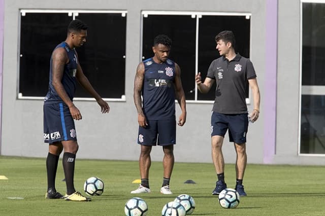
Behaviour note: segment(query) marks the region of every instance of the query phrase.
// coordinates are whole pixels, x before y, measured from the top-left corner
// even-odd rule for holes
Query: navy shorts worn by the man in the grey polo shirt
[[[248,117],[246,114],[220,114],[212,112],[211,136],[223,136],[229,129],[229,141],[238,144],[246,142]]]

